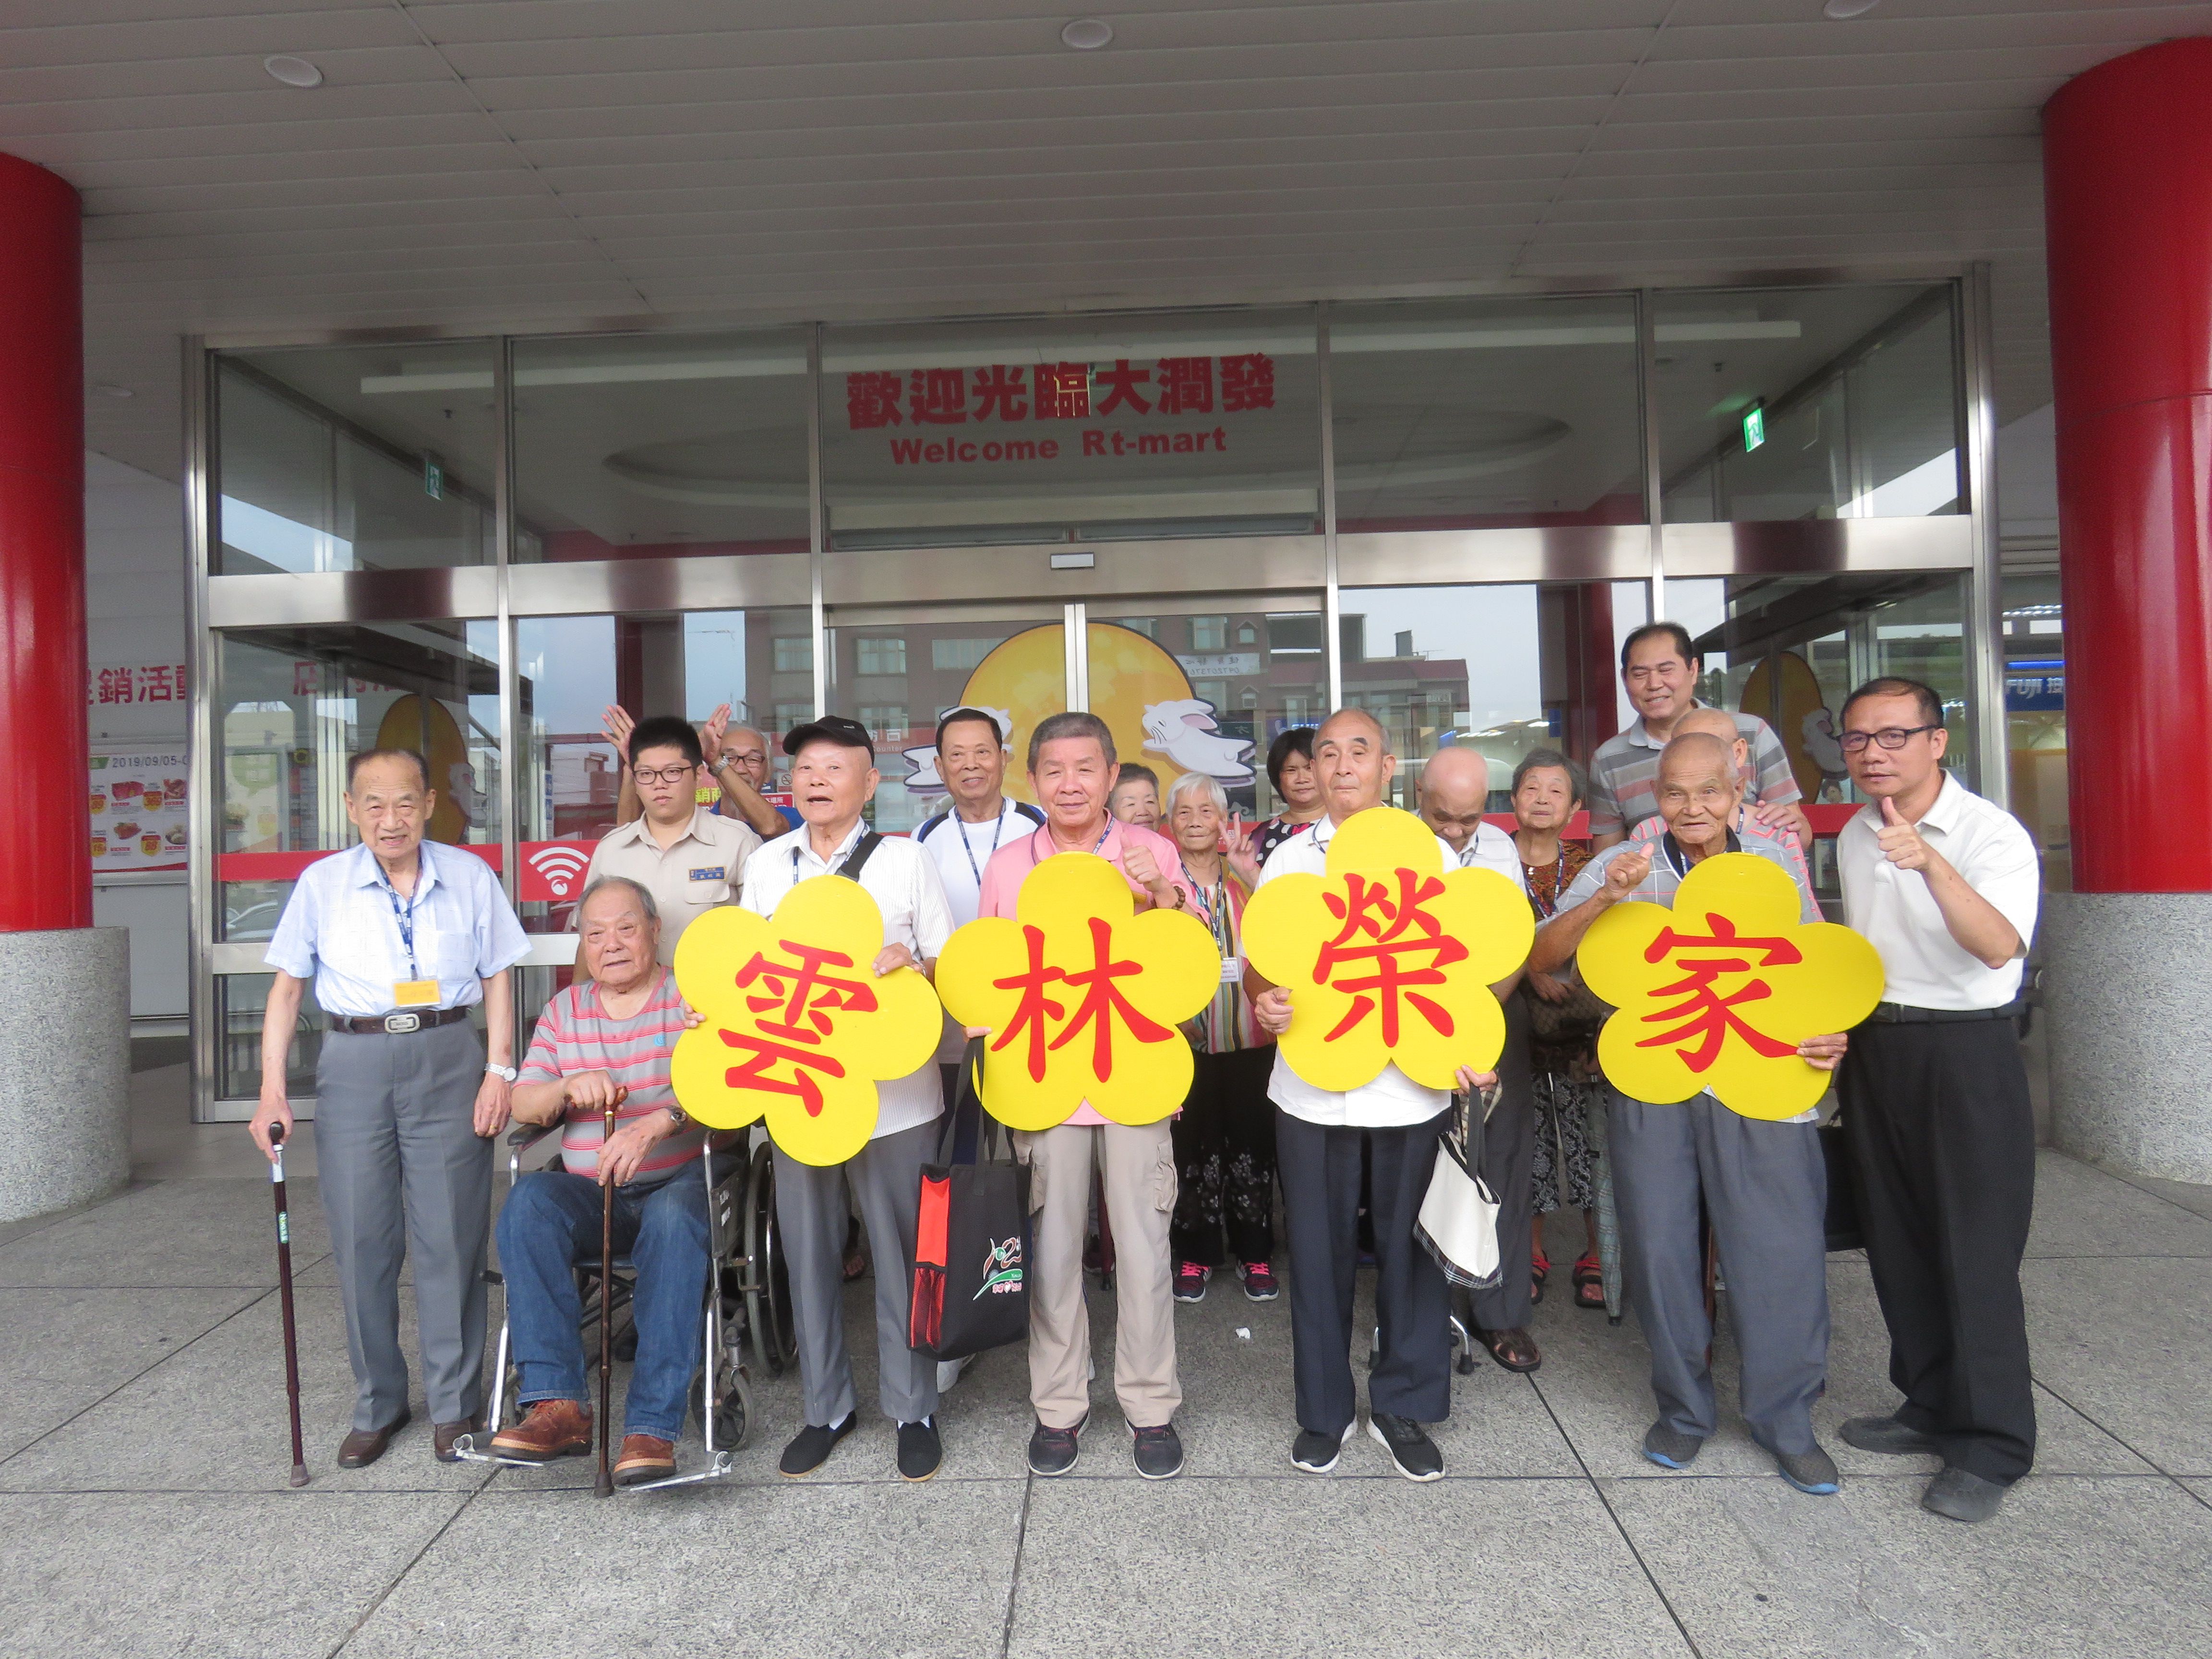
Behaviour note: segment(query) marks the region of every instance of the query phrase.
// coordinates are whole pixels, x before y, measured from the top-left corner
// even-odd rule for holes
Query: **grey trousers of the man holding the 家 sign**
[[[1697,1199],[1705,1194],[1743,1356],[1743,1420],[1767,1451],[1809,1451],[1827,1378],[1827,1166],[1812,1124],[1739,1117],[1712,1095],[1650,1106],[1606,1091],[1606,1157],[1628,1301],[1652,1352],[1659,1422],[1719,1427]]]

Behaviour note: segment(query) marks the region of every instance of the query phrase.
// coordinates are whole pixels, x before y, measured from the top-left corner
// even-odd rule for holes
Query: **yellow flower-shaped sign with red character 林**
[[[1197,916],[1135,911],[1119,869],[1062,852],[1022,878],[1013,920],[951,936],[938,993],[953,1020],[991,1029],[991,1117],[1042,1130],[1088,1099],[1117,1124],[1157,1124],[1183,1104],[1192,1066],[1177,1024],[1221,987],[1221,951]]]

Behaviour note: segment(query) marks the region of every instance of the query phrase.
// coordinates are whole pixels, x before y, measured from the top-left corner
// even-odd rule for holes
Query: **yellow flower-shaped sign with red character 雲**
[[[914,969],[872,971],[883,911],[845,876],[814,876],[772,920],[726,905],[684,929],[677,989],[706,1024],[677,1040],[670,1082],[708,1128],[768,1115],[801,1164],[843,1164],[876,1133],[876,1084],[936,1053],[938,998]]]

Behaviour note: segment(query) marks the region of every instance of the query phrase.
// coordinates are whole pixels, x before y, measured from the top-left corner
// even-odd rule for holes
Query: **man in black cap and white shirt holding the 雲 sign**
[[[936,860],[902,836],[878,836],[860,818],[876,796],[876,745],[867,728],[843,714],[794,726],[783,739],[792,757],[792,801],[801,825],[776,836],[745,865],[745,909],[772,916],[792,887],[814,876],[852,876],[883,911],[876,973],[911,967],[933,973],[953,918]],[[936,1148],[945,1110],[936,1060],[876,1086],[876,1135],[845,1164],[827,1168],[776,1157],[776,1223],[783,1228],[799,1332],[799,1383],[807,1420],[783,1449],[785,1475],[807,1475],[858,1422],[852,1356],[845,1349],[845,1190],[860,1210],[876,1259],[878,1400],[898,1425],[898,1473],[929,1480],[938,1471],[938,1367],[907,1345],[907,1298],[914,1283],[914,1232],[920,1214],[922,1164]]]

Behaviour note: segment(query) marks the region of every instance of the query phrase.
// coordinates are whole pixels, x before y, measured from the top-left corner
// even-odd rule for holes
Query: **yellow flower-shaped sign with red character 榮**
[[[1290,991],[1290,1068],[1345,1093],[1387,1064],[1429,1088],[1495,1066],[1506,1020],[1491,987],[1535,936],[1522,891],[1495,869],[1444,869],[1436,832],[1396,807],[1347,818],[1327,869],[1276,876],[1245,905],[1245,956]]]

